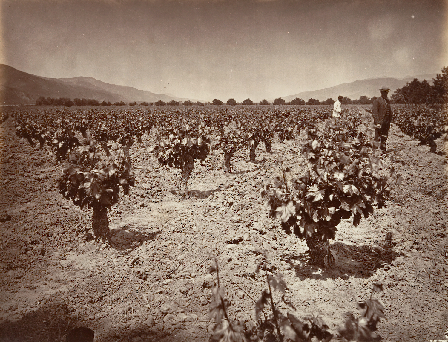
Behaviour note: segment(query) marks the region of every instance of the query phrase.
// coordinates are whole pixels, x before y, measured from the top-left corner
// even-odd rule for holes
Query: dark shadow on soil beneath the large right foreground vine
[[[345,243],[334,242],[330,244],[335,262],[332,268],[319,268],[312,265],[308,254],[289,256],[287,262],[300,280],[307,278],[325,280],[328,278],[349,279],[370,278],[377,270],[390,264],[400,255],[392,251],[392,245],[383,244],[386,248],[381,253],[372,252],[368,246],[349,246]]]

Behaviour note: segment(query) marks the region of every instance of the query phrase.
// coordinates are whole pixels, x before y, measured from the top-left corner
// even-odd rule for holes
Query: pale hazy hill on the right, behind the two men
[[[328,98],[336,100],[338,95],[347,96],[352,100],[359,99],[360,96],[366,95],[368,97],[379,96],[379,88],[382,86],[388,86],[393,91],[400,89],[406,85],[406,82],[411,82],[414,78],[418,78],[419,81],[426,81],[432,84],[432,79],[436,74],[426,74],[417,76],[407,76],[406,78],[369,78],[365,80],[358,80],[350,83],[342,83],[335,87],[314,90],[314,91],[302,91],[295,95],[282,96],[281,98],[286,102],[294,100],[296,97],[308,101],[309,99],[317,99],[319,101],[325,101]]]

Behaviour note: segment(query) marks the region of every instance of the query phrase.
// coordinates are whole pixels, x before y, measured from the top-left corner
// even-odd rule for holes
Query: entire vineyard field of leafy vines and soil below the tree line
[[[2,341],[444,337],[446,108],[127,107],[1,109]]]

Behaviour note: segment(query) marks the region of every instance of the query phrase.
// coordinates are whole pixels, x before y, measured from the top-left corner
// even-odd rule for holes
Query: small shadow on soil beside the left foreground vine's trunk
[[[111,229],[111,242],[116,249],[128,254],[135,248],[142,246],[143,242],[152,240],[161,232],[160,229],[156,228],[125,225]]]

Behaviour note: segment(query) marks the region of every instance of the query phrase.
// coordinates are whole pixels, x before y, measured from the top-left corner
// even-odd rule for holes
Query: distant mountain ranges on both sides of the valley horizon
[[[338,95],[342,95],[354,100],[359,99],[362,95],[368,97],[379,96],[379,88],[384,85],[390,87],[393,92],[405,86],[406,82],[411,82],[414,78],[420,81],[426,79],[432,83],[432,78],[435,77],[436,74],[406,76],[405,78],[369,78],[342,83],[335,87],[282,96],[282,99],[286,102],[296,97],[305,101],[311,98],[324,101],[328,98],[336,100]],[[204,100],[179,98],[170,93],[155,94],[151,91],[138,90],[133,87],[109,84],[92,77],[47,78],[36,76],[14,69],[9,65],[0,64],[0,104],[35,104],[40,96],[68,97],[72,100],[86,98],[99,100],[100,102],[106,100],[112,103],[121,101],[126,103],[134,101],[155,102],[157,100],[164,102],[170,100],[206,102]],[[273,102],[273,99],[270,102]]]

